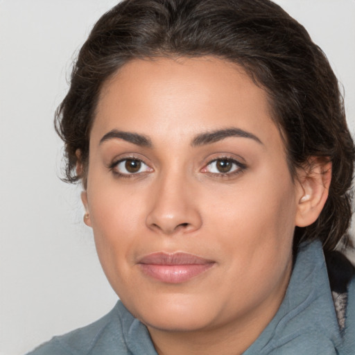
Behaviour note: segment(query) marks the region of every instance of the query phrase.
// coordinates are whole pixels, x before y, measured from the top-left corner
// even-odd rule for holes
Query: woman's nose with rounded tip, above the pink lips
[[[191,183],[178,176],[159,179],[152,189],[152,204],[146,218],[150,230],[166,235],[191,233],[202,225],[198,199]]]

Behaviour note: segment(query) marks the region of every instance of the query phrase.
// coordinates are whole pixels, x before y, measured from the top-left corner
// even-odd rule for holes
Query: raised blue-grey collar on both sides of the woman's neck
[[[117,307],[130,352],[157,355],[144,324],[134,318],[121,302]],[[270,354],[276,349],[288,354],[282,350],[284,346],[291,344],[298,351],[292,344],[304,345],[304,342],[311,341],[309,339],[329,340],[334,348],[340,347],[342,341],[320,241],[300,245],[284,301],[266,329],[243,355]]]

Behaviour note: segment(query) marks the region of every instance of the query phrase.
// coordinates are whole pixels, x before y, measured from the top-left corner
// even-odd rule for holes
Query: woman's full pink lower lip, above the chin
[[[184,264],[184,265],[157,265],[140,263],[139,266],[144,274],[168,284],[180,284],[189,279],[201,275],[209,270],[214,263]]]

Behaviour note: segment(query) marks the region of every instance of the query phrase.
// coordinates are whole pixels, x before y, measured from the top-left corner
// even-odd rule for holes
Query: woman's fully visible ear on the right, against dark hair
[[[295,225],[311,225],[320,215],[328,198],[331,182],[331,162],[322,157],[310,157],[297,169],[297,213]]]

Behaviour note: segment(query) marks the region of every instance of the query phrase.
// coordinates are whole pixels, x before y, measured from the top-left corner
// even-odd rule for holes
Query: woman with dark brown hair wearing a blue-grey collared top
[[[279,6],[119,3],[56,124],[121,301],[31,354],[354,353],[334,252],[354,144],[324,53]]]

